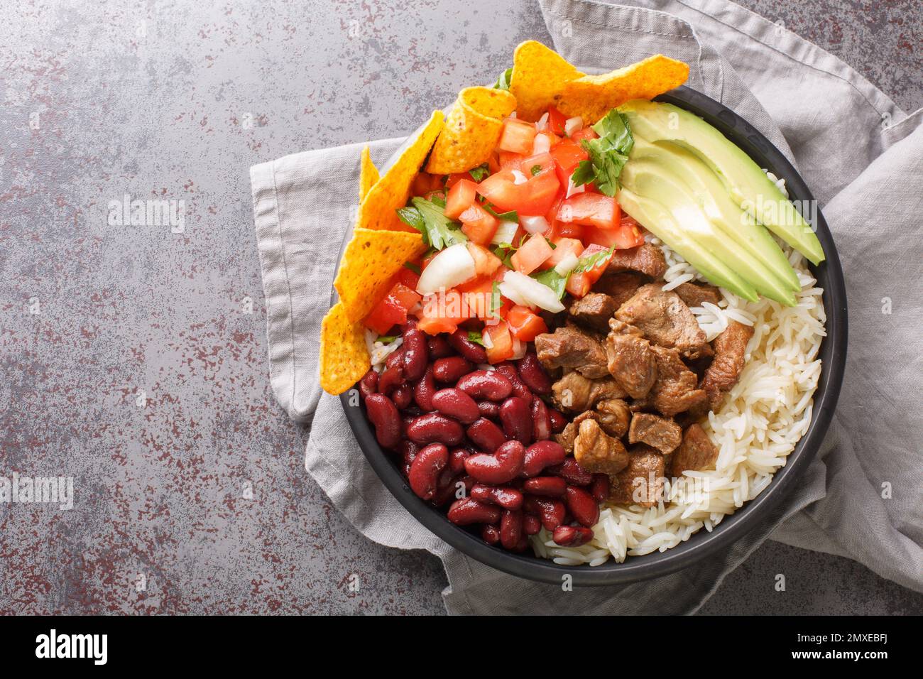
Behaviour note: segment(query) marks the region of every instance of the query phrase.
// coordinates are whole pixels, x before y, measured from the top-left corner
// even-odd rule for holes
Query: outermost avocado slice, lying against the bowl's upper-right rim
[[[732,200],[815,264],[824,260],[821,241],[795,206],[759,165],[699,116],[670,103],[634,100],[618,107],[635,137],[672,141],[713,169]]]

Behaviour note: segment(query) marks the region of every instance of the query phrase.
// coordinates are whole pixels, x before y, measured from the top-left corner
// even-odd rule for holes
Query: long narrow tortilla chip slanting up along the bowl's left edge
[[[356,226],[364,229],[418,233],[413,227],[398,219],[397,212],[394,211],[407,204],[414,176],[442,131],[444,118],[441,111],[433,111],[426,126],[419,130],[413,139],[405,142],[408,145],[403,149],[401,157],[368,190],[366,198],[359,204]]]

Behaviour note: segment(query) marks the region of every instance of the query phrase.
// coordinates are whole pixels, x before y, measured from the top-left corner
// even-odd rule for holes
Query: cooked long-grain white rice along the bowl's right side
[[[775,180],[774,177],[773,181]],[[784,180],[778,180],[785,192]],[[650,234],[666,258],[665,289],[702,276],[677,252]],[[718,412],[702,423],[719,449],[715,469],[683,472],[667,479],[665,501],[644,508],[604,505],[593,527],[593,540],[577,548],[557,546],[545,528],[531,538],[533,551],[565,565],[599,565],[610,558],[665,552],[704,528],[712,531],[726,515],[757,497],[808,430],[812,396],[821,375],[817,358],[825,336],[822,290],[816,287],[804,258],[780,242],[801,283],[797,306],[783,307],[770,299],[748,302],[724,288],[717,305],[705,302],[690,309],[709,341],[729,321],[753,327],[744,370]],[[677,482],[678,481],[678,482]],[[698,494],[683,485],[704,484]]]

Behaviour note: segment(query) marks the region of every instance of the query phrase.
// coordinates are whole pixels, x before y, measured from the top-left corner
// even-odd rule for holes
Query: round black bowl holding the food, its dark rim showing
[[[756,164],[768,168],[775,176],[784,178],[792,200],[813,200],[804,180],[798,176],[795,168],[785,159],[782,152],[746,120],[721,103],[697,91],[689,90],[687,87],[680,87],[659,96],[657,101],[673,103],[695,115],[700,115],[711,125],[717,127],[727,139],[747,152]],[[411,138],[413,137],[414,135]],[[396,158],[397,155],[398,153],[394,157]],[[727,516],[712,532],[700,530],[689,540],[679,543],[666,552],[629,556],[622,564],[609,561],[603,565],[591,567],[558,565],[550,560],[535,557],[531,553],[515,554],[490,546],[481,540],[479,531],[475,533],[451,524],[443,511],[434,509],[414,495],[403,479],[401,470],[395,464],[395,458],[386,454],[378,446],[375,431],[366,419],[365,409],[362,406],[350,404],[350,392],[341,396],[346,419],[369,464],[394,497],[439,538],[483,564],[514,576],[556,585],[560,584],[561,576],[569,574],[573,577],[575,585],[582,586],[616,585],[664,576],[677,571],[709,554],[726,549],[735,540],[758,526],[773,510],[773,507],[781,503],[795,486],[798,476],[808,467],[809,462],[817,453],[827,427],[830,425],[836,399],[840,394],[840,385],[843,382],[846,358],[846,293],[843,271],[840,268],[836,247],[833,245],[833,237],[820,211],[817,212],[817,224],[814,226],[827,256],[826,261],[823,261],[820,266],[811,267],[811,271],[818,280],[818,285],[824,291],[823,306],[827,313],[827,336],[821,345],[821,379],[817,392],[814,394],[814,411],[810,427],[797,443],[795,450],[788,455],[785,467],[775,472],[770,485],[756,499],[744,504],[733,515]],[[350,237],[351,233],[347,233],[344,244]]]

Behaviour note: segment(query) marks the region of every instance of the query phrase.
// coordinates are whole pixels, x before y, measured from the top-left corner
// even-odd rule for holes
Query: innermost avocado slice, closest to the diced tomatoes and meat
[[[713,222],[701,205],[701,197],[683,180],[688,173],[679,170],[677,164],[651,158],[638,159],[632,155],[629,163],[625,164],[619,181],[635,196],[647,201],[641,203],[646,212],[651,212],[650,203],[656,203],[663,211],[668,212],[672,216],[671,224],[677,224],[677,227],[685,232],[685,242],[675,243],[675,234],[665,231],[661,235],[658,229],[663,229],[663,226],[654,224],[653,227],[649,227],[632,214],[628,206],[622,207],[645,228],[677,250],[709,280],[712,278],[695,260],[701,260],[707,254],[720,261],[725,266],[726,271],[722,272],[725,281],[717,285],[724,285],[728,290],[748,299],[757,299],[755,295],[749,297],[755,290],[763,297],[775,299],[789,306],[794,305],[795,297],[792,291],[786,288],[772,270],[750,254],[749,249],[741,248]],[[705,172],[710,174],[711,170],[705,168]],[[715,268],[714,264],[710,266],[712,269]],[[726,285],[727,279],[731,285]],[[716,283],[714,280],[712,282]]]

